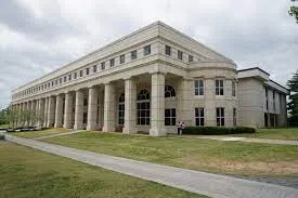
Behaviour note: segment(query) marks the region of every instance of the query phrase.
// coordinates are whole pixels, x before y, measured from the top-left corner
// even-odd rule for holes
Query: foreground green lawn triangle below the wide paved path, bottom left
[[[0,142],[0,197],[205,197]]]

